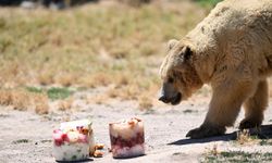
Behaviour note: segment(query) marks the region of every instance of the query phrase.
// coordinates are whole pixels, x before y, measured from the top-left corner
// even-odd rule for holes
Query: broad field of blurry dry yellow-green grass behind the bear
[[[208,11],[187,1],[139,8],[101,2],[65,11],[1,9],[0,103],[17,110],[36,103],[41,114],[48,112],[48,93],[29,93],[25,87],[107,87],[97,95],[98,103],[118,98],[151,108],[165,42],[184,36]]]

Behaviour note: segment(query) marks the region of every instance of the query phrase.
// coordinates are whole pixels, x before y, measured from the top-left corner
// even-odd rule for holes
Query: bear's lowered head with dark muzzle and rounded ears
[[[178,104],[203,85],[195,68],[195,55],[196,51],[189,41],[169,41],[168,55],[160,67],[163,80],[160,101]]]

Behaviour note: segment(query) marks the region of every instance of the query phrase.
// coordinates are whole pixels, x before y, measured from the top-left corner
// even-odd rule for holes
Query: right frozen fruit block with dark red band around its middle
[[[144,124],[139,118],[110,123],[113,158],[132,158],[145,154]]]

